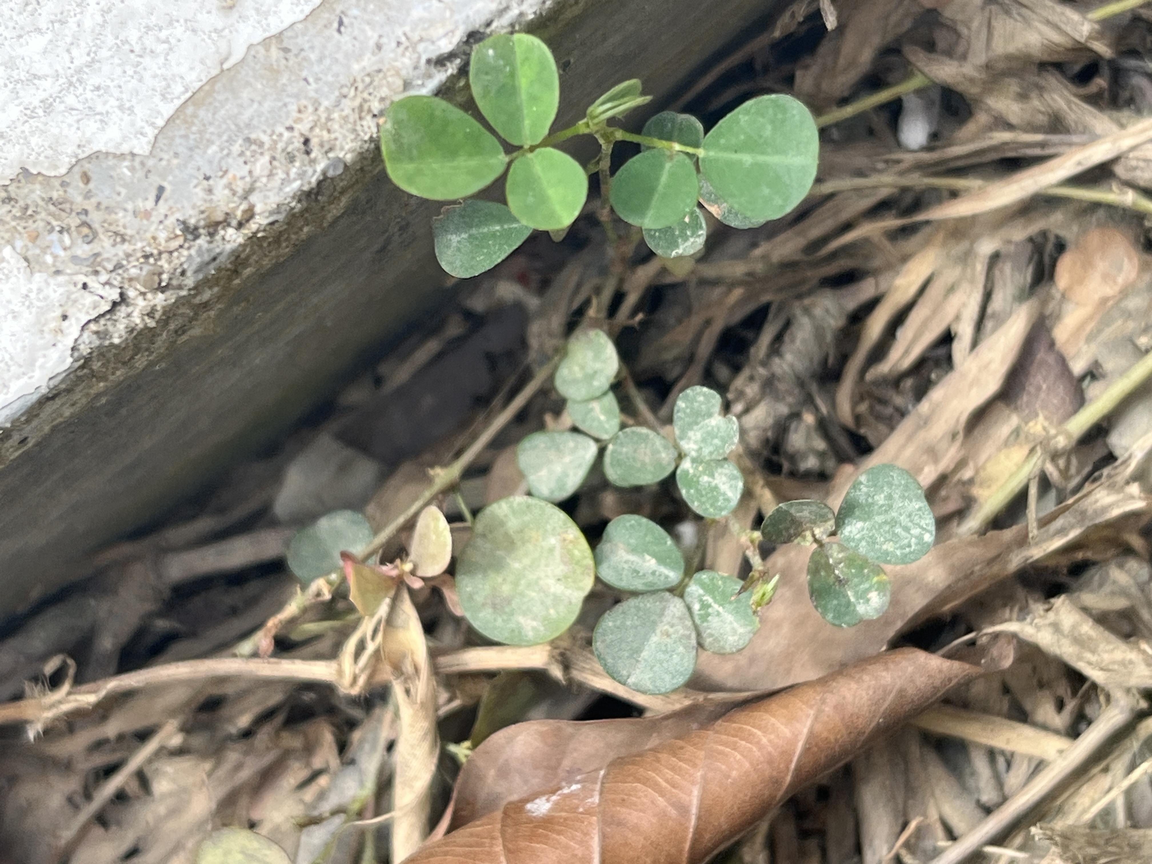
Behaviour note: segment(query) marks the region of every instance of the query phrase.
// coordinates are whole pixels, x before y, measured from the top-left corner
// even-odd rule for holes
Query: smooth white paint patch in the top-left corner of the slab
[[[146,154],[200,85],[320,0],[2,0],[0,183]],[[7,7],[7,8],[5,8]]]

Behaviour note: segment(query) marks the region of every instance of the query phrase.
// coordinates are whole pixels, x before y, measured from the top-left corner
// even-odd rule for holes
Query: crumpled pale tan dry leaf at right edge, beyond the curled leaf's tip
[[[1152,654],[1113,636],[1067,597],[1028,621],[1009,621],[986,632],[1010,632],[1109,690],[1152,687]]]

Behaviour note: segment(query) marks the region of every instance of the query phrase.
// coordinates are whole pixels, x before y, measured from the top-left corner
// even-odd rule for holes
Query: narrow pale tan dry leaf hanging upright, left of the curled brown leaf
[[[400,719],[393,750],[392,861],[404,861],[429,835],[432,780],[440,756],[435,679],[420,617],[404,586],[388,611],[380,652],[393,672],[392,692]]]

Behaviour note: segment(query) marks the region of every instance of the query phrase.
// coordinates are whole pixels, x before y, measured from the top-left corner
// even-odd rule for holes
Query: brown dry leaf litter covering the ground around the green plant
[[[271,455],[3,624],[0,862],[192,862],[219,828],[302,863],[1146,861],[1152,385],[1094,407],[1152,349],[1150,45],[1138,5],[782,9],[676,107],[707,129],[790,92],[823,115],[794,213],[705,214],[703,251],[623,276],[590,219],[529,241]],[[605,585],[550,645],[477,638],[453,561],[472,513],[526,492],[517,442],[569,432],[564,400],[529,393],[422,497],[590,309],[623,426],[726,394],[740,531],[835,508],[876,464],[924,486],[937,545],[887,568],[882,615],[831,627],[809,550],[593,469],[561,502],[593,546],[638,514],[697,569],[780,575],[750,645],[630,691],[591,653],[627,596]],[[349,597],[283,563],[334,509],[429,515],[380,567],[344,559]]]

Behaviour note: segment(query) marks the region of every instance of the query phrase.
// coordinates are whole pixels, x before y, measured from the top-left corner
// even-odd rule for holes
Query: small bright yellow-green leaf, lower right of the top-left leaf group
[[[584,207],[588,175],[568,153],[543,147],[511,164],[505,195],[524,225],[558,230],[571,225]]]

